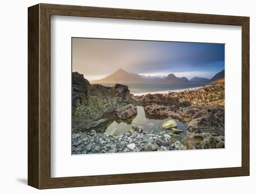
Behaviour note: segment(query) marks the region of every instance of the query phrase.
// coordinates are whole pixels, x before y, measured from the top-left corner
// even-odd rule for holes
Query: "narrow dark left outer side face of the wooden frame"
[[[39,188],[39,5],[28,9],[28,180]]]

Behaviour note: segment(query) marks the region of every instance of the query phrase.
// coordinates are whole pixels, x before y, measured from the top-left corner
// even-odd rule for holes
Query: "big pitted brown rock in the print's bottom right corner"
[[[187,127],[188,149],[224,148],[224,108],[206,106],[195,113]]]

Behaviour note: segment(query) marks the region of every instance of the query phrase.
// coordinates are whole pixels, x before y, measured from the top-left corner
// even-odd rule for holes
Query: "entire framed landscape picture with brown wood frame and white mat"
[[[249,17],[28,8],[28,185],[249,175]]]

